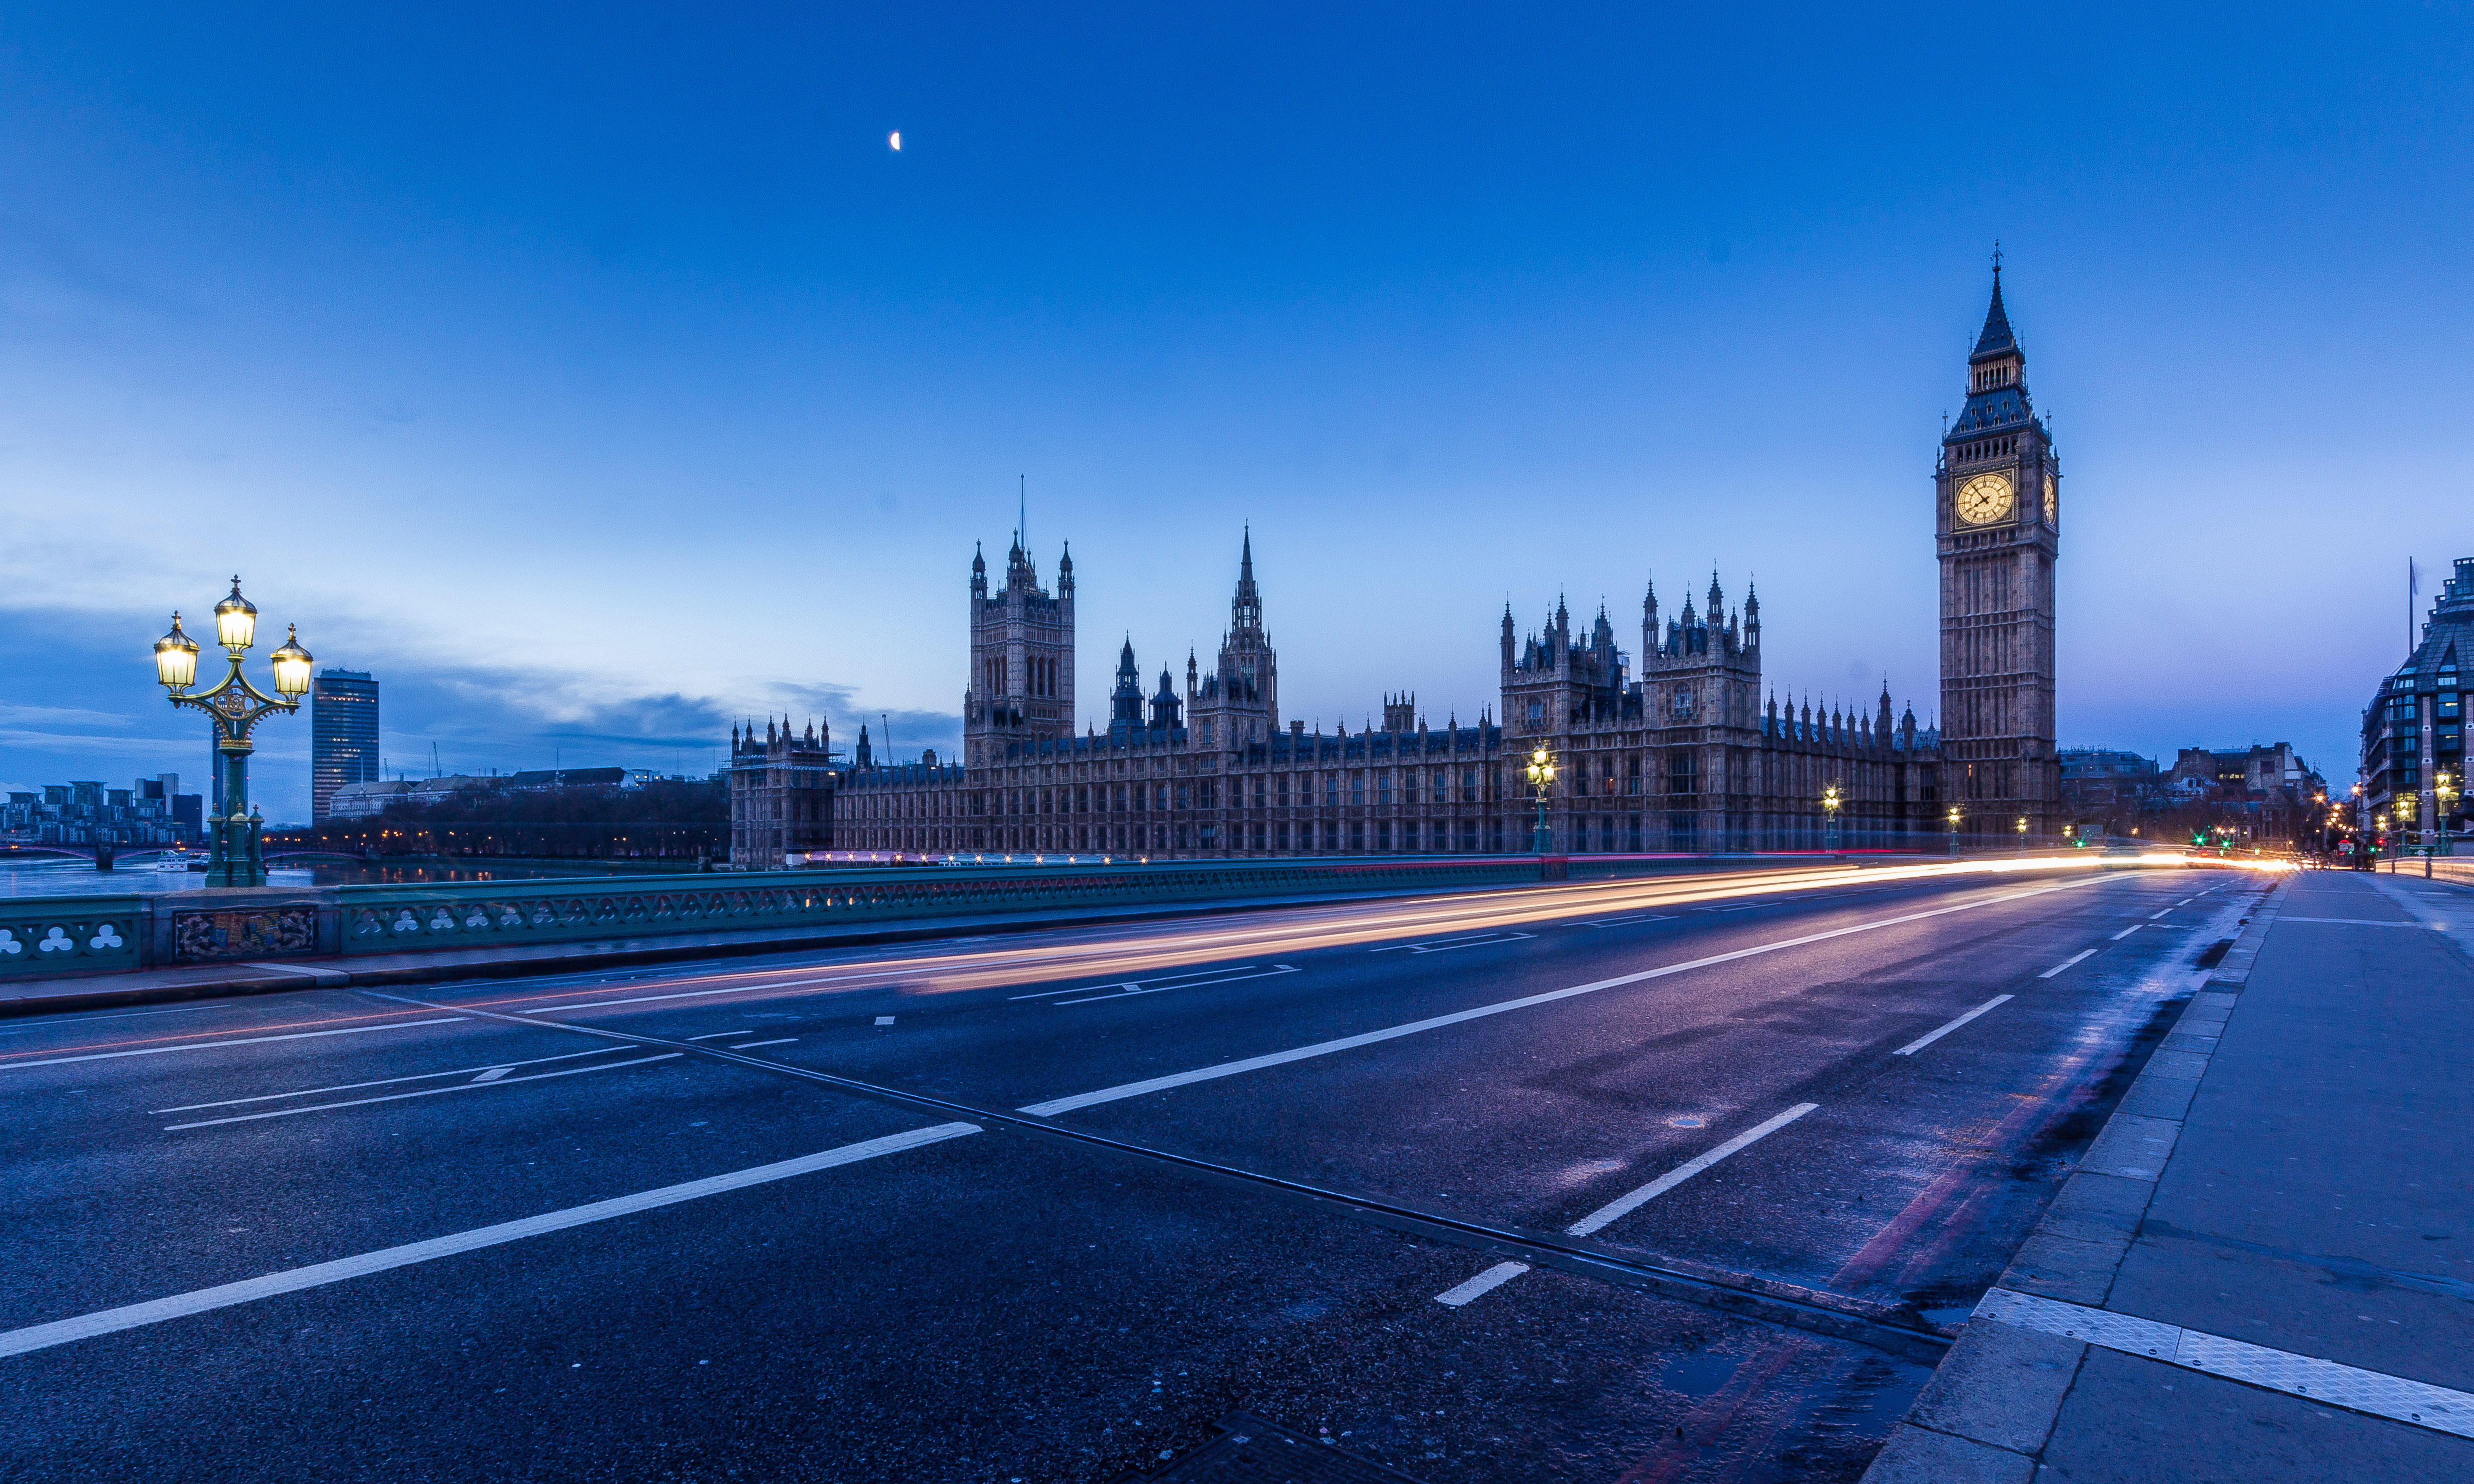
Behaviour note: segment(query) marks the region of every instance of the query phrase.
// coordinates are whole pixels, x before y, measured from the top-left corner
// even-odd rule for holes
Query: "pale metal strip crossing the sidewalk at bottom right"
[[[2293,1350],[2271,1350],[2269,1345],[2229,1341],[2224,1336],[2182,1328],[2177,1323],[2157,1323],[2152,1318],[2138,1318],[2135,1313],[2113,1313],[2110,1308],[2086,1308],[2081,1303],[2063,1303],[2061,1298],[2014,1294],[2011,1289],[1987,1291],[1972,1318],[1994,1318],[2019,1328],[2120,1350],[2123,1355],[2162,1360],[2165,1365],[2177,1365],[2182,1370],[2199,1370],[2204,1375],[2222,1375],[2244,1385],[2293,1392],[2298,1397],[2311,1397],[2313,1402],[2345,1407],[2348,1412],[2370,1412],[2373,1417],[2392,1417],[2397,1422],[2429,1427],[2432,1432],[2474,1437],[2474,1392],[2429,1385],[2427,1380],[2407,1380],[2402,1375],[2363,1370],[2360,1365],[2343,1365],[2338,1360],[2321,1360],[2318,1355],[2298,1355]]]

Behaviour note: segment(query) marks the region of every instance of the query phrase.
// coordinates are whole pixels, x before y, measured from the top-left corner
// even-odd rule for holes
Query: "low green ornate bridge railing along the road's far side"
[[[1079,915],[1249,898],[1836,866],[1836,856],[1346,856],[1150,866],[928,866],[0,898],[0,979],[520,942]]]

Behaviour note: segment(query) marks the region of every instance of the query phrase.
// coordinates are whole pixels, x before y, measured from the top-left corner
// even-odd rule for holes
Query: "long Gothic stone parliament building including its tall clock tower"
[[[1930,848],[2058,829],[2053,561],[2061,467],[2026,393],[2026,356],[1992,304],[1967,356],[1967,403],[1935,472],[1940,727],[1779,707],[1761,680],[1761,603],[1729,608],[1717,576],[1672,606],[1640,599],[1638,665],[1601,608],[1556,608],[1522,633],[1502,616],[1502,685],[1472,722],[1427,725],[1385,697],[1380,727],[1309,732],[1279,710],[1252,534],[1210,668],[1145,685],[1118,650],[1108,730],[1076,732],[1074,556],[1054,586],[1022,537],[1002,584],[970,564],[962,754],[878,762],[866,727],[844,759],[821,730],[732,730],[730,861],[831,856],[1108,856],[1197,861],[1301,853],[1526,851],[1526,757],[1551,749],[1554,851],[1799,851],[1823,846],[1823,791],[1843,848]]]

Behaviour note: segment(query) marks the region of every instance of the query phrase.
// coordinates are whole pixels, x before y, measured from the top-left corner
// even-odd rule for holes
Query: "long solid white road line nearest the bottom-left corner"
[[[242,1279],[238,1284],[223,1284],[218,1289],[195,1289],[190,1294],[173,1294],[171,1298],[153,1298],[148,1303],[99,1308],[94,1313],[79,1313],[77,1318],[54,1318],[52,1323],[35,1323],[27,1328],[0,1333],[0,1358],[25,1355],[27,1350],[42,1350],[47,1345],[67,1345],[72,1341],[92,1341],[94,1336],[109,1336],[114,1331],[139,1328],[146,1323],[163,1323],[166,1318],[186,1318],[190,1313],[228,1308],[233,1303],[250,1303],[255,1298],[272,1298],[275,1294],[297,1294],[302,1289],[319,1289],[324,1284],[341,1284],[346,1279],[366,1279],[369,1274],[383,1274],[388,1269],[411,1266],[416,1261],[433,1261],[440,1256],[455,1256],[460,1252],[475,1252],[480,1247],[497,1247],[502,1242],[522,1242],[527,1237],[544,1237],[549,1232],[564,1232],[569,1227],[609,1222],[614,1217],[631,1217],[636,1212],[651,1212],[666,1205],[703,1200],[708,1195],[747,1190],[750,1185],[789,1180],[792,1175],[811,1175],[816,1170],[831,1170],[836,1165],[856,1165],[858,1160],[873,1160],[878,1155],[915,1150],[920,1145],[960,1138],[965,1133],[980,1133],[980,1125],[938,1123],[933,1128],[913,1128],[910,1133],[871,1138],[866,1143],[841,1145],[839,1150],[824,1150],[821,1155],[802,1155],[797,1160],[782,1160],[777,1165],[755,1165],[750,1170],[732,1170],[730,1175],[708,1175],[705,1180],[688,1180],[685,1185],[663,1185],[661,1190],[643,1190],[638,1195],[596,1200],[591,1205],[569,1207],[564,1212],[547,1212],[539,1217],[524,1217],[520,1222],[500,1222],[495,1227],[475,1227],[473,1232],[455,1232],[453,1237],[430,1237],[428,1242],[411,1242],[406,1247],[383,1247],[379,1252],[364,1252],[359,1256],[339,1256],[334,1261],[287,1269],[280,1274],[267,1274],[262,1279]]]

